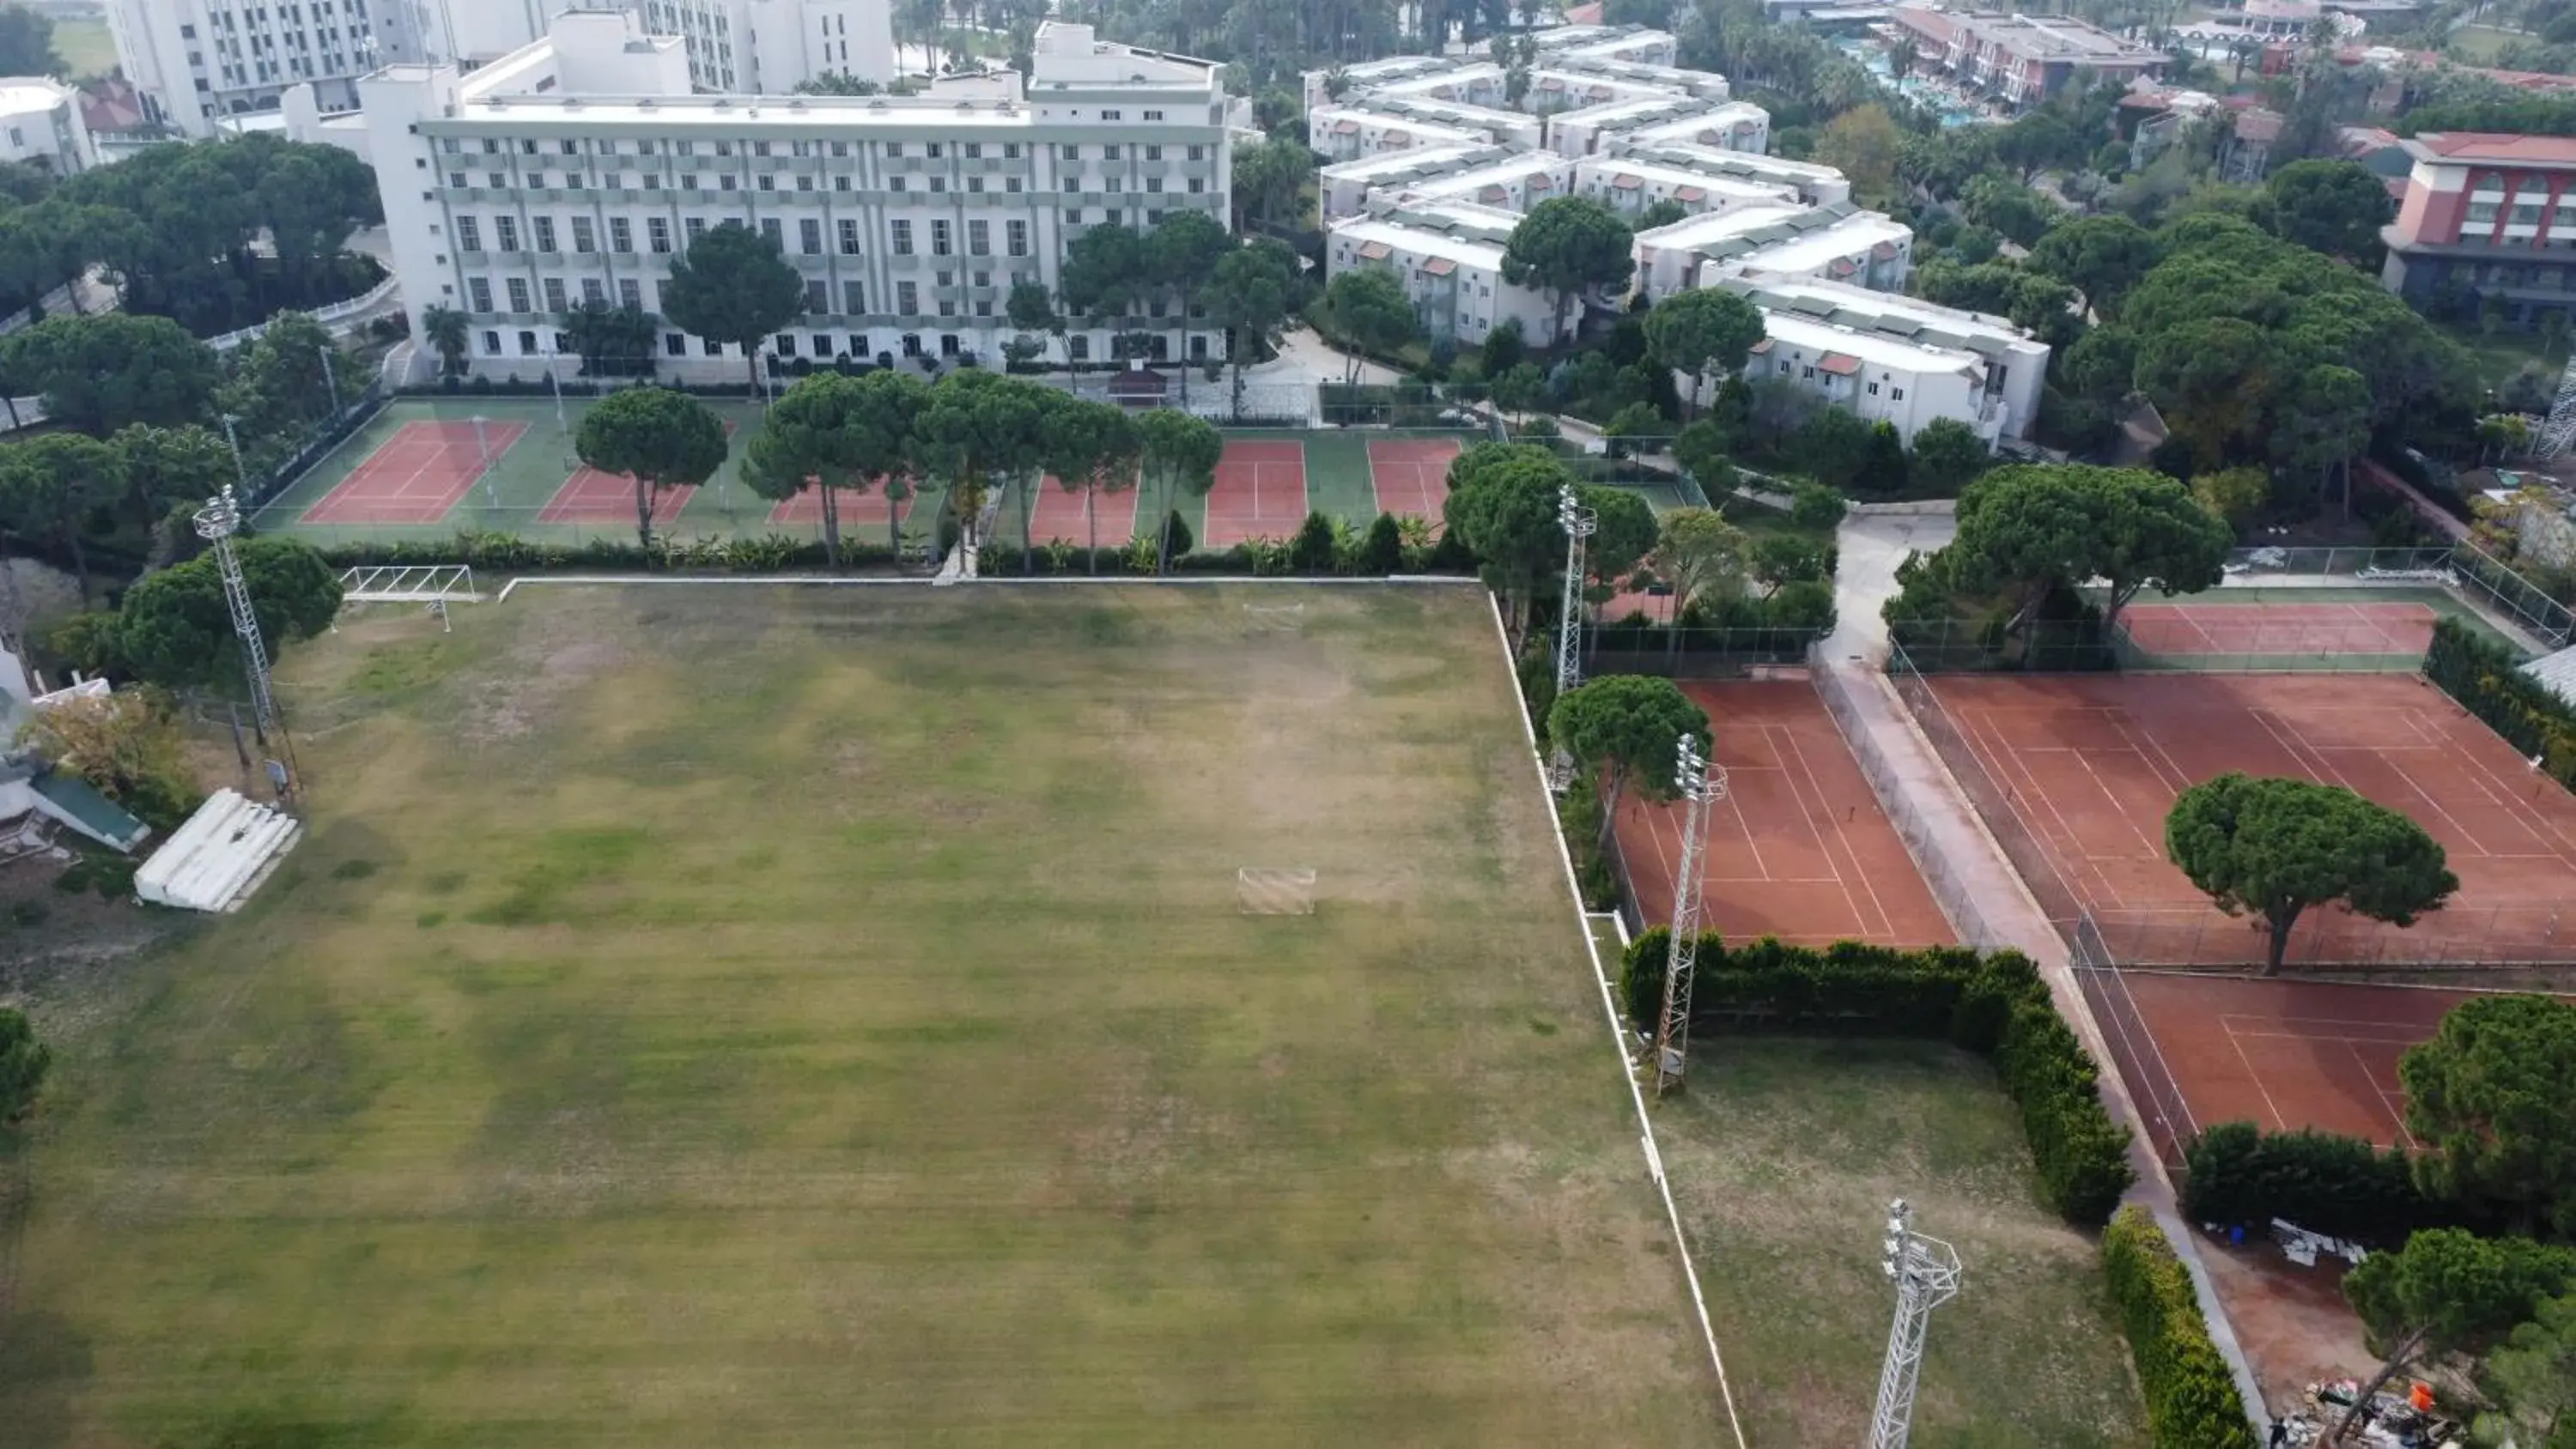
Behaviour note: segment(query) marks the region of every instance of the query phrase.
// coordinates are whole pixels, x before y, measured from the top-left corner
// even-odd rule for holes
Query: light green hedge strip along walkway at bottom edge
[[[2254,1449],[2254,1423],[2210,1343],[2192,1274],[2146,1207],[2120,1210],[2102,1230],[2102,1277],[2138,1364],[2156,1449]]]

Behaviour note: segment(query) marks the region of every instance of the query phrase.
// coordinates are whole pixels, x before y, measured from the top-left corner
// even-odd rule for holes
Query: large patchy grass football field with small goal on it
[[[312,839],[36,1001],[0,1441],[1713,1444],[1492,628],[634,587],[291,649]]]

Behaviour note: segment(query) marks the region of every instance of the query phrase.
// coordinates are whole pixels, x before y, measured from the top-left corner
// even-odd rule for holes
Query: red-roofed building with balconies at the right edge
[[[2576,309],[2576,139],[2427,131],[2398,219],[2380,229],[2380,283],[2414,306],[2488,301],[2506,324]]]

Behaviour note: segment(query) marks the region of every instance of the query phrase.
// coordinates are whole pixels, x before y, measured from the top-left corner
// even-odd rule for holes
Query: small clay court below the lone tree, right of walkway
[[[2079,970],[2076,981],[2166,1161],[2218,1122],[2414,1145],[2398,1058],[2468,1001],[2465,991],[2159,970]]]

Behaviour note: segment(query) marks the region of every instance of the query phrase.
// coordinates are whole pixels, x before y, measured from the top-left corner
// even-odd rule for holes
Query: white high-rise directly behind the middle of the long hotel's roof
[[[819,75],[894,80],[889,0],[623,0],[654,36],[680,36],[711,95],[786,95]]]

